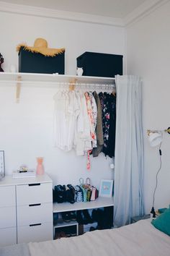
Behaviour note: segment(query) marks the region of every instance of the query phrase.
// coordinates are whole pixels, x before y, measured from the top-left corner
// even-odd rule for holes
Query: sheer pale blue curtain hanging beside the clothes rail
[[[144,214],[142,81],[117,75],[116,90],[114,222],[123,226]]]

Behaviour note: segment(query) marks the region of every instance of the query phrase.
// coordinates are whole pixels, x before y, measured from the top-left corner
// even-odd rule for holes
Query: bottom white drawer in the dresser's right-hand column
[[[41,242],[53,239],[53,223],[37,223],[37,226],[19,226],[18,243]]]

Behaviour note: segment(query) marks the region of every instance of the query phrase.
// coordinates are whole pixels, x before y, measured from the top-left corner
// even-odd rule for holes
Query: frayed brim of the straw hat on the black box
[[[17,46],[17,51],[20,51],[21,48],[24,48],[24,51],[31,51],[32,53],[42,54],[44,56],[55,56],[58,54],[63,54],[65,48],[45,48],[45,47],[31,47],[25,44],[19,44]]]

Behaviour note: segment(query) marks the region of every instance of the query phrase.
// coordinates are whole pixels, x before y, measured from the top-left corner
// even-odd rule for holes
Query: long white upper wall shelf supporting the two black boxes
[[[32,84],[32,86],[46,86],[57,85],[58,83],[77,82],[78,84],[87,85],[114,85],[114,77],[85,77],[76,75],[66,74],[36,74],[36,73],[12,73],[12,72],[1,72],[0,73],[0,84],[4,83],[22,83]]]

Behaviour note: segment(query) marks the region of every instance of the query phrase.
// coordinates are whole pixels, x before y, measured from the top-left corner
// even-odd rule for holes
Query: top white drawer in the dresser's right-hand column
[[[17,185],[17,205],[53,202],[52,183]]]

